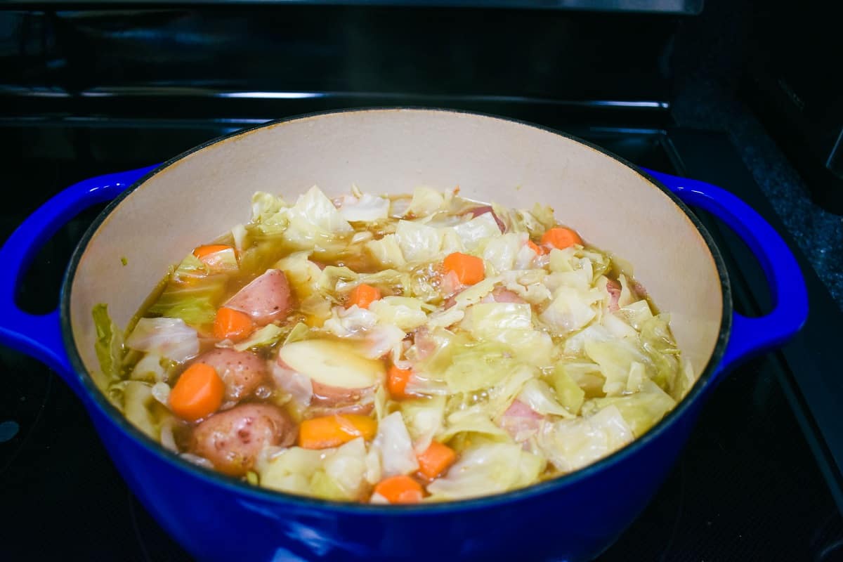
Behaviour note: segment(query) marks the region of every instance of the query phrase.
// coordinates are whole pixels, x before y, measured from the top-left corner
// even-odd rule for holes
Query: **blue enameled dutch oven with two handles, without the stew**
[[[197,467],[131,426],[89,373],[91,309],[126,325],[186,249],[248,220],[255,190],[287,200],[317,184],[372,192],[459,185],[507,206],[542,201],[556,217],[636,268],[698,380],[657,426],[572,474],[502,495],[417,506],[368,506],[262,490]],[[114,200],[73,254],[58,310],[24,313],[15,286],[40,245],[78,211]],[[771,313],[733,313],[726,269],[685,206],[732,227],[764,266]],[[126,261],[126,265],[123,261]],[[29,217],[3,245],[0,340],[46,362],[78,393],[142,504],[206,560],[591,559],[657,490],[717,381],[781,345],[807,315],[787,245],[728,191],[638,169],[598,147],[526,123],[447,110],[353,110],[282,120],[226,136],[160,166],[88,179]]]

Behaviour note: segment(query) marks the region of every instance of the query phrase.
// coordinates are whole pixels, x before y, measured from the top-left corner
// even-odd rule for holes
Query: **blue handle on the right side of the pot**
[[[774,302],[770,313],[757,318],[733,313],[732,334],[717,372],[781,345],[796,334],[808,318],[808,291],[796,258],[752,207],[715,185],[696,179],[644,170],[690,206],[711,212],[743,238],[764,269]]]

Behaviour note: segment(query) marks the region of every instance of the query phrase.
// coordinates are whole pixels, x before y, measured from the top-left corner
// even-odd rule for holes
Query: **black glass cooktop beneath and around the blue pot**
[[[524,108],[505,104],[492,109],[525,115]],[[286,113],[300,110],[307,108]],[[612,126],[601,118],[594,126],[552,107],[526,113],[633,163],[718,183],[773,218],[724,135],[646,128],[640,120]],[[8,146],[20,148],[0,154],[6,200],[0,238],[78,179],[156,163],[250,123],[0,120]],[[46,312],[56,305],[68,256],[97,211],[72,221],[35,260],[20,294],[26,308]],[[743,244],[710,217],[701,218],[727,258],[738,310],[763,310],[769,296]],[[823,411],[816,378],[840,374],[824,346],[829,342],[833,349],[830,338],[840,334],[843,318],[804,261],[803,267],[812,307],[806,330],[784,351],[749,362],[717,388],[652,503],[599,560],[843,559],[840,450],[829,431],[838,422]],[[0,349],[0,377],[0,559],[189,559],[132,497],[82,405],[59,378],[7,349]],[[840,388],[824,394],[835,392]]]

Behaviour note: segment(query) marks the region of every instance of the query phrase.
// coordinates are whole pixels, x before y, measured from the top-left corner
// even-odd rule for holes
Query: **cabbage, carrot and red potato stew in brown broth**
[[[94,308],[97,380],[162,446],[274,490],[517,489],[642,436],[695,378],[629,265],[540,204],[257,193],[185,254],[126,335]]]

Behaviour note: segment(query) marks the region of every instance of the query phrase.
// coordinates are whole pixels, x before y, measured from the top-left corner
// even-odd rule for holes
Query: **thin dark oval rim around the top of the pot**
[[[169,449],[164,448],[164,446],[162,446],[160,443],[154,441],[152,437],[146,435],[145,433],[137,429],[137,427],[133,426],[132,423],[126,418],[126,416],[123,415],[123,413],[119,409],[117,409],[114,404],[111,404],[110,401],[106,399],[105,393],[100,390],[94,383],[93,377],[90,376],[88,369],[83,364],[82,357],[79,355],[76,342],[73,339],[72,327],[70,322],[72,280],[76,274],[79,260],[81,260],[89,241],[91,240],[91,238],[94,237],[94,234],[98,230],[99,226],[105,221],[106,217],[110,215],[110,212],[113,211],[116,206],[119,206],[121,204],[121,201],[123,201],[128,195],[132,194],[132,192],[137,190],[138,187],[143,185],[148,179],[152,178],[155,174],[158,174],[158,172],[169,168],[170,165],[177,163],[181,159],[186,158],[191,154],[196,153],[206,147],[210,147],[220,142],[227,142],[237,136],[247,135],[251,132],[260,129],[278,126],[296,120],[315,119],[345,113],[366,113],[371,111],[399,112],[405,110],[429,111],[432,113],[452,113],[481,117],[485,119],[503,120],[516,123],[521,126],[529,126],[534,129],[539,129],[540,131],[550,132],[555,135],[564,136],[574,142],[578,142],[586,147],[596,150],[599,153],[603,153],[609,158],[615,160],[615,162],[632,169],[634,172],[636,172],[636,174],[641,175],[642,178],[646,179],[648,183],[654,185],[656,188],[658,188],[658,190],[661,190],[665,195],[670,198],[671,201],[674,202],[674,205],[676,205],[679,208],[679,211],[682,211],[685,214],[685,217],[687,217],[690,222],[694,224],[697,231],[705,240],[706,246],[708,247],[709,252],[711,253],[711,258],[714,260],[714,263],[717,267],[717,275],[720,278],[722,287],[722,318],[719,333],[717,335],[717,342],[714,346],[714,350],[711,352],[711,356],[709,357],[708,362],[706,363],[706,367],[702,370],[700,376],[697,377],[694,385],[690,388],[688,393],[685,394],[685,397],[674,406],[674,409],[671,409],[668,414],[662,418],[662,420],[659,420],[658,423],[655,426],[652,426],[650,430],[647,431],[643,436],[636,438],[631,443],[627,444],[625,447],[621,447],[620,449],[610,453],[606,457],[601,458],[598,461],[589,464],[588,466],[579,468],[573,471],[572,473],[563,474],[553,479],[548,479],[537,484],[531,484],[518,490],[511,490],[499,494],[484,495],[481,497],[470,498],[465,500],[448,500],[436,503],[421,503],[404,506],[383,506],[373,504],[359,504],[350,501],[322,500],[319,498],[313,498],[303,495],[294,495],[289,494],[287,492],[282,492],[280,490],[271,490],[268,488],[255,486],[243,480],[236,479],[231,476],[226,476],[211,468],[204,468],[195,463],[191,463],[190,461],[181,458],[178,453],[169,451]],[[157,456],[160,460],[164,461],[164,463],[168,463],[173,468],[178,468],[182,472],[203,479],[206,481],[207,484],[217,485],[232,492],[250,496],[255,500],[276,503],[278,505],[282,505],[284,503],[294,504],[303,508],[348,512],[358,515],[389,515],[392,517],[396,517],[401,515],[437,514],[454,511],[475,511],[479,509],[502,506],[517,501],[529,500],[534,496],[549,494],[552,492],[563,490],[570,486],[577,485],[577,483],[579,483],[580,481],[588,479],[590,476],[599,473],[604,468],[609,468],[621,463],[624,459],[631,457],[643,447],[647,447],[647,445],[649,445],[651,442],[656,441],[672,426],[674,426],[676,423],[679,423],[679,419],[682,418],[686,413],[690,412],[691,407],[693,404],[695,404],[695,402],[698,402],[699,400],[704,398],[704,394],[706,393],[706,390],[711,386],[714,374],[715,372],[717,372],[717,367],[719,366],[723,353],[726,350],[726,345],[728,343],[729,335],[732,328],[733,303],[732,290],[729,282],[728,272],[726,270],[726,265],[722,259],[722,255],[720,254],[719,249],[717,249],[717,245],[711,238],[711,234],[708,233],[708,231],[706,230],[706,227],[704,227],[700,220],[695,217],[693,212],[690,211],[690,208],[686,206],[685,203],[683,203],[681,200],[679,200],[679,197],[674,195],[673,192],[668,190],[661,182],[659,182],[658,179],[654,179],[650,174],[647,174],[642,169],[638,168],[635,164],[628,162],[625,158],[620,158],[619,156],[610,153],[604,148],[594,145],[591,142],[584,141],[583,139],[580,139],[576,136],[566,134],[565,132],[556,131],[556,129],[553,129],[551,127],[530,123],[529,121],[525,120],[519,120],[510,117],[502,117],[500,115],[491,115],[476,111],[451,110],[448,108],[429,108],[417,106],[384,106],[372,108],[363,107],[348,108],[343,110],[318,111],[301,115],[293,115],[278,120],[267,121],[266,123],[262,123],[257,126],[252,126],[245,129],[241,129],[239,131],[234,131],[232,133],[229,133],[228,135],[217,136],[207,142],[203,142],[197,145],[196,147],[192,147],[191,149],[186,150],[185,152],[180,153],[174,158],[170,158],[166,162],[160,164],[157,168],[153,169],[148,174],[138,179],[134,184],[126,188],[126,190],[124,190],[120,195],[118,195],[114,201],[111,201],[110,204],[99,213],[99,216],[96,217],[94,222],[92,222],[88,229],[85,231],[76,249],[73,250],[70,263],[67,266],[67,270],[65,271],[64,279],[62,280],[62,290],[60,295],[59,308],[62,327],[62,340],[64,342],[65,351],[67,351],[67,356],[70,359],[70,363],[73,367],[74,374],[79,377],[82,388],[87,393],[87,398],[90,399],[89,404],[87,405],[94,404],[94,406],[99,409],[99,413],[101,413],[112,423],[114,423],[115,426],[117,426],[122,433],[126,434],[126,436],[128,437],[131,437],[135,442],[137,442],[139,446],[147,449],[148,452],[151,452],[153,455]]]

